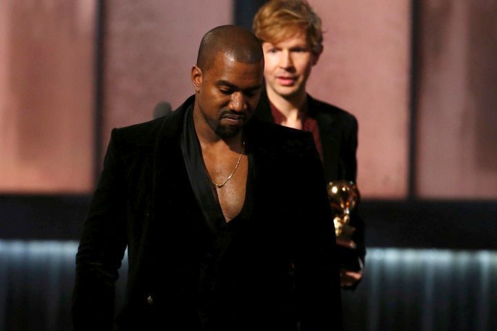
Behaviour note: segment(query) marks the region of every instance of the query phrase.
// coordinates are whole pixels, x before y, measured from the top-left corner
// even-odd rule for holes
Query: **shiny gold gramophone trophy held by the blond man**
[[[333,223],[340,267],[360,270],[356,246],[351,239],[355,228],[349,224],[351,212],[360,200],[358,187],[353,181],[340,180],[329,182],[327,188],[331,208],[335,212]]]

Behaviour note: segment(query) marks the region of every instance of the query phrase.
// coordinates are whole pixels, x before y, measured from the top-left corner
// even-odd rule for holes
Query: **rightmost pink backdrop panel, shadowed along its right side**
[[[497,6],[420,1],[418,195],[497,199]]]

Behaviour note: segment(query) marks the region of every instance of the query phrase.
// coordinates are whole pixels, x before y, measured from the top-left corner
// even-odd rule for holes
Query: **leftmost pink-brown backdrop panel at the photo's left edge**
[[[90,192],[95,3],[0,1],[0,192]]]

